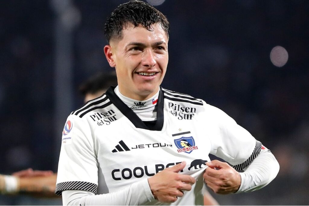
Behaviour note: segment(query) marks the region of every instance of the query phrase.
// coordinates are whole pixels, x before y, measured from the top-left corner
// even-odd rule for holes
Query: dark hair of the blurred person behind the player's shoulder
[[[79,92],[85,96],[88,93],[95,94],[99,90],[107,90],[108,87],[116,85],[117,77],[114,72],[100,72],[99,74],[95,74],[94,76],[90,77],[86,80],[86,82],[79,86]]]

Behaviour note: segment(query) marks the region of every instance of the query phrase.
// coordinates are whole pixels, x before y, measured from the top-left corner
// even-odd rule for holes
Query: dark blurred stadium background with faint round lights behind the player
[[[145,0],[146,1],[146,0]],[[221,108],[269,148],[276,179],[222,205],[309,204],[309,2],[147,0],[171,23],[162,86]],[[104,23],[125,0],[10,0],[0,6],[0,173],[57,171],[78,86],[112,71]],[[0,195],[0,205],[60,199]]]

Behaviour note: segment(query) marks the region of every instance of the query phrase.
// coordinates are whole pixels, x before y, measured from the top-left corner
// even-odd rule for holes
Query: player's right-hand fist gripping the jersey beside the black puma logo
[[[226,162],[213,160],[206,162],[208,166],[203,175],[205,183],[218,194],[230,194],[236,192],[241,183],[240,174]]]

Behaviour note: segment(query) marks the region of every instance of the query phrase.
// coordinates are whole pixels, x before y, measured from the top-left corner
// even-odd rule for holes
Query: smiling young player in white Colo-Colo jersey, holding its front
[[[104,53],[118,86],[67,119],[56,187],[63,204],[199,205],[204,183],[229,194],[277,175],[273,154],[223,111],[160,88],[168,33],[166,17],[145,2],[122,4],[108,18]],[[233,166],[210,162],[209,153]]]

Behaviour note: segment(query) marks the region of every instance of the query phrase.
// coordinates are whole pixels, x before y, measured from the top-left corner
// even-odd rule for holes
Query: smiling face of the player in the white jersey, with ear
[[[168,63],[166,32],[159,23],[151,30],[129,25],[122,30],[122,39],[104,47],[108,63],[116,69],[121,94],[139,101],[158,92]]]

